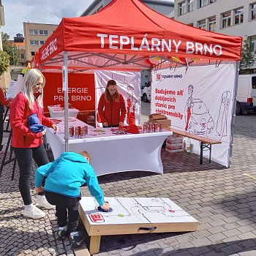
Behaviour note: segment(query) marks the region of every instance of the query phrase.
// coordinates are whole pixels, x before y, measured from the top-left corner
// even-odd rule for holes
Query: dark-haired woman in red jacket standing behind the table
[[[124,126],[127,110],[124,97],[118,93],[115,80],[108,81],[105,93],[99,99],[98,112],[103,127]]]

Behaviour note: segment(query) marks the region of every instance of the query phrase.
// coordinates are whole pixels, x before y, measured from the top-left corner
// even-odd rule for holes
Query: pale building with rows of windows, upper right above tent
[[[249,38],[252,52],[256,50],[255,0],[175,0],[174,19],[199,29]]]

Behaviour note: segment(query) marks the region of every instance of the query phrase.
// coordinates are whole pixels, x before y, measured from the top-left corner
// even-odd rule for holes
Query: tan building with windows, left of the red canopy
[[[45,43],[48,37],[53,34],[57,26],[53,24],[23,22],[27,62],[31,61],[35,53]]]

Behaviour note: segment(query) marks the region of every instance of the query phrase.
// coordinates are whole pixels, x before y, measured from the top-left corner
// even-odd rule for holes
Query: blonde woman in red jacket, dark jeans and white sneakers
[[[49,159],[42,144],[42,135],[45,135],[45,130],[37,133],[31,132],[27,119],[36,113],[40,124],[52,127],[58,132],[57,125],[42,114],[44,86],[45,77],[42,73],[37,69],[29,69],[24,76],[23,89],[10,104],[12,148],[20,168],[19,189],[24,203],[23,215],[32,219],[45,217],[45,213],[37,206],[47,209],[53,208],[42,192],[37,195],[37,206],[35,206],[32,203],[29,190],[32,159],[38,166],[48,164]]]

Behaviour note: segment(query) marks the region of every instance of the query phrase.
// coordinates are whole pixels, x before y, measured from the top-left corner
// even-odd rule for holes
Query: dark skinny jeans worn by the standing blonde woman
[[[29,189],[30,176],[32,172],[32,159],[34,159],[38,167],[48,164],[49,159],[43,145],[37,148],[13,148],[13,150],[15,152],[15,157],[20,168],[20,195],[23,199],[24,205],[29,205],[32,203]],[[42,184],[42,186],[43,185],[44,184]],[[39,195],[44,195],[44,193],[39,193]]]

